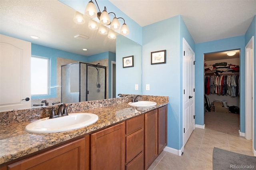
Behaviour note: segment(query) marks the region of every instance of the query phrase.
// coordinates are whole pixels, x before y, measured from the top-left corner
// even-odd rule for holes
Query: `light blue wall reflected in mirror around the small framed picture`
[[[133,55],[134,67],[123,68],[123,57]],[[116,95],[142,94],[141,45],[124,37],[116,37]],[[139,89],[135,90],[135,84]]]

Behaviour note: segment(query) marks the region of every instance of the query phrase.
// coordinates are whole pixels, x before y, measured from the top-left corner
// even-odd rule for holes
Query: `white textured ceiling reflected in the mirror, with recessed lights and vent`
[[[88,29],[88,18],[83,25],[75,24],[75,12],[58,0],[0,0],[0,33],[86,56],[105,51],[115,53],[116,40]],[[89,39],[74,38],[78,34]],[[34,40],[30,35],[40,39]]]

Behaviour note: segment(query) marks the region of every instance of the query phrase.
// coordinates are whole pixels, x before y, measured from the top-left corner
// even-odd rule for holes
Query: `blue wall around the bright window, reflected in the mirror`
[[[31,55],[38,57],[46,57],[50,59],[50,95],[39,95],[32,96],[32,99],[41,99],[41,98],[52,98],[57,96],[57,57],[73,59],[78,61],[86,62],[86,56],[79,55],[75,53],[70,53],[67,51],[62,51],[59,49],[54,49],[50,47],[45,47],[42,45],[31,44]]]

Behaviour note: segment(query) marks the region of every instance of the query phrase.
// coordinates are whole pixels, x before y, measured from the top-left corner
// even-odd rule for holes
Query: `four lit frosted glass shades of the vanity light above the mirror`
[[[99,12],[97,12],[96,6],[92,2],[92,0],[90,0],[90,2],[88,2],[87,6],[85,8],[84,15],[88,16],[91,19],[95,18],[97,16],[97,18],[100,20],[101,24],[110,25],[111,30],[114,30],[114,31],[119,30],[120,23],[119,23],[118,19],[124,20],[124,18],[116,18],[116,14],[114,12],[108,13],[107,10],[106,10],[106,6],[104,6],[104,10],[102,12],[100,12],[100,8],[98,6],[98,3],[97,3],[96,0],[95,0],[95,2],[96,2],[96,5],[98,7]],[[114,14],[114,18],[113,18],[112,22],[110,22],[109,14]],[[75,21],[75,19],[74,19],[74,21]],[[90,25],[90,23],[89,23],[88,27],[90,29],[92,29],[92,26]],[[124,20],[124,24],[121,27],[120,34],[122,34],[122,35],[128,35],[129,34],[129,29],[128,29],[128,26],[125,24],[125,20]]]

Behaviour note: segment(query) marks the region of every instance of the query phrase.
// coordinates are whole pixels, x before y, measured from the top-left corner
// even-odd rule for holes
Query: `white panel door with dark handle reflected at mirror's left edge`
[[[31,107],[30,62],[30,42],[0,35],[0,111]]]

